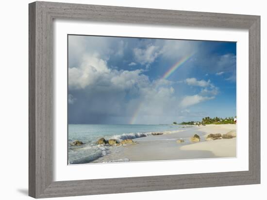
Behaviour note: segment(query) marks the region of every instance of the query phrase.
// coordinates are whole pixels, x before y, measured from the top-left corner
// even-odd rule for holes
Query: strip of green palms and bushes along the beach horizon
[[[174,122],[173,122],[174,124]],[[180,123],[182,125],[197,125],[197,124],[234,124],[234,117],[225,117],[225,118],[221,118],[221,117],[214,117],[214,118],[210,118],[210,117],[204,117],[202,118],[202,121],[183,121],[182,123]]]

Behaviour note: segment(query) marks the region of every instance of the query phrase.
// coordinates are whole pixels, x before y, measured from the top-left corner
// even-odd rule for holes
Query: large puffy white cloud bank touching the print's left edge
[[[105,86],[117,89],[131,89],[150,84],[143,70],[133,71],[110,69],[98,54],[84,56],[80,67],[68,69],[68,86],[70,89],[84,89],[86,86]]]

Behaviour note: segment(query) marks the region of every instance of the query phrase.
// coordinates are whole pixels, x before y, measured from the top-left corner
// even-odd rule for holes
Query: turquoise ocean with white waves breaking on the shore
[[[109,124],[69,124],[68,125],[68,164],[90,163],[106,156],[112,149],[108,145],[98,145],[96,142],[104,137],[108,139],[135,139],[151,135],[155,132],[174,133],[184,128],[184,125],[109,125]],[[73,147],[70,143],[80,140],[82,146]]]

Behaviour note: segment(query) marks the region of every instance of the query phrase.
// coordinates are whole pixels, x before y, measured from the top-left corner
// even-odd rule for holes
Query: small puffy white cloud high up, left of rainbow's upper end
[[[145,49],[134,48],[134,57],[142,65],[153,63],[160,54],[160,48],[152,44],[148,45]]]

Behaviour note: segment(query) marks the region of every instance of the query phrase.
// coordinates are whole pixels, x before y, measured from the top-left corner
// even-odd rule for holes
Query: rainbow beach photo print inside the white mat
[[[236,42],[67,42],[69,165],[236,157]]]

